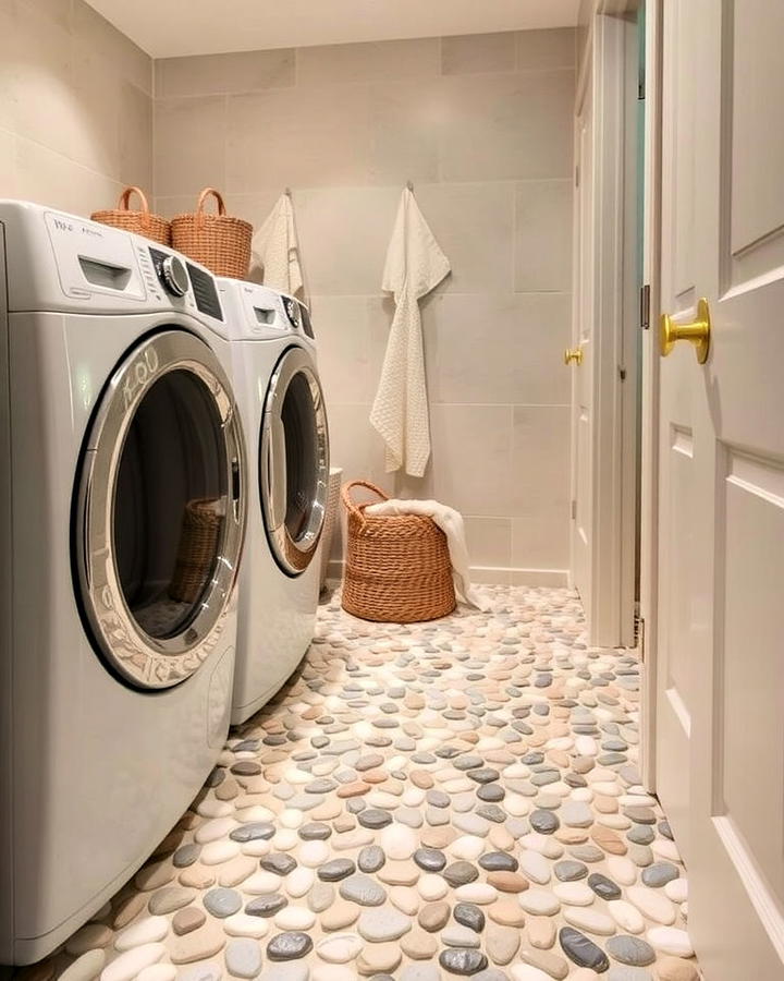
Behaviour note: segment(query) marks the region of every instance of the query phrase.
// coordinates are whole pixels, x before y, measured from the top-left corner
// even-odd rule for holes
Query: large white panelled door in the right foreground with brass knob
[[[784,978],[784,4],[663,0],[657,785],[710,981]]]

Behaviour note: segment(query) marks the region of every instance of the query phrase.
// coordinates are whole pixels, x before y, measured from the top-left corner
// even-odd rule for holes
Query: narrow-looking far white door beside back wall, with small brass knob
[[[591,609],[591,463],[593,398],[593,92],[588,77],[575,128],[575,317],[566,355],[572,382],[572,574],[586,614]]]

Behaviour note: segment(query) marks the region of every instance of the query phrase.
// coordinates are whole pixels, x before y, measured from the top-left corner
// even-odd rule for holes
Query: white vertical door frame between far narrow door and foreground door
[[[592,257],[587,257],[593,265],[592,481],[588,507],[591,595],[586,616],[589,643],[604,647],[635,645],[639,457],[634,420],[639,379],[636,359],[629,354],[638,343],[638,323],[636,316],[628,315],[629,307],[637,308],[637,296],[636,287],[634,296],[629,296],[628,264],[624,259],[630,228],[625,16],[636,7],[635,0],[597,0],[593,4],[585,48],[578,52],[576,93],[576,107],[580,107],[587,85],[592,86],[593,228],[589,235]],[[575,239],[578,243],[579,235]],[[574,316],[576,329],[576,310]],[[572,467],[574,494],[574,453]]]

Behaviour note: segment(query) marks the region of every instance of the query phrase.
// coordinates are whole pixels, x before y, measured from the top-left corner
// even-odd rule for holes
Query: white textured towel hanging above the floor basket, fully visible
[[[403,192],[387,251],[382,288],[394,293],[381,380],[370,422],[387,444],[387,472],[405,468],[422,476],[430,457],[425,352],[419,300],[450,271],[414,195]]]

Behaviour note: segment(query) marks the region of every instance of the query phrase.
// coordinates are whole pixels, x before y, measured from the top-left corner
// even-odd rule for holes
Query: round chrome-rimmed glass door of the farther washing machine
[[[313,359],[303,348],[280,358],[267,390],[259,453],[267,537],[287,576],[316,555],[329,481],[327,412]]]

